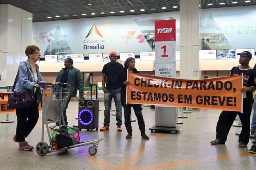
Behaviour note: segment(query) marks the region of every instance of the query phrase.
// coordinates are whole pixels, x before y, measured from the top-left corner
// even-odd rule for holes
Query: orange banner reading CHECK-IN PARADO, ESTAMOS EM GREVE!
[[[226,111],[242,109],[242,76],[184,80],[128,73],[127,103]]]

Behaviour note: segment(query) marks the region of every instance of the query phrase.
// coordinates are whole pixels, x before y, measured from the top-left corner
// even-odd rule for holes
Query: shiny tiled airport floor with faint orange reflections
[[[103,125],[104,104],[100,103],[99,128]],[[68,108],[69,125],[77,124],[77,102],[71,102]],[[220,111],[195,110],[186,114],[182,129],[178,134],[151,133],[148,128],[154,125],[154,109],[143,107],[146,134],[150,140],[142,139],[137,122],[132,122],[133,136],[126,139],[126,129],[116,131],[115,116],[111,116],[110,130],[105,132],[82,130],[81,140],[103,137],[95,156],[88,153],[89,146],[48,153],[39,156],[35,150],[19,151],[17,143],[12,141],[16,130],[16,116],[11,114],[15,123],[0,123],[0,169],[255,169],[256,155],[249,154],[248,148],[238,147],[241,128],[232,127],[225,145],[211,146],[215,139],[215,128]],[[132,118],[136,118],[134,113]],[[5,119],[5,115],[0,115]],[[124,120],[124,115],[123,115]],[[27,141],[34,146],[41,141],[41,114],[35,129]],[[48,138],[45,133],[45,141]]]

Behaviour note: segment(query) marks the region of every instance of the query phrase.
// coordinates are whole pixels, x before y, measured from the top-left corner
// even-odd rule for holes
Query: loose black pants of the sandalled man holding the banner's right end
[[[216,138],[221,140],[222,142],[226,142],[228,132],[238,114],[242,123],[242,131],[238,141],[247,144],[249,142],[250,137],[251,113],[252,108],[244,108],[243,113],[233,111],[222,111],[221,115],[219,115],[219,120],[216,127]]]

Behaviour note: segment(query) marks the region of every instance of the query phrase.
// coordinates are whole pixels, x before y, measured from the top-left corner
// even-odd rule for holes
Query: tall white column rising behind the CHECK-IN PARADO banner
[[[199,79],[200,0],[180,0],[180,77]]]

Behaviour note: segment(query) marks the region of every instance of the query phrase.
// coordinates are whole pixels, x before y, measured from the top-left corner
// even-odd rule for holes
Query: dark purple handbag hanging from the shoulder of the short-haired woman
[[[26,66],[27,66],[27,64],[26,64]],[[28,73],[28,79],[29,79],[29,77],[31,77],[31,75],[30,75],[28,68],[27,68],[27,73]],[[13,93],[10,94],[9,100],[7,103],[7,107],[9,109],[19,109],[19,108],[29,107],[32,105],[32,103],[35,100],[33,90],[26,89],[25,91],[21,91],[21,92],[14,91],[17,80],[18,80],[18,75],[19,75],[19,70],[17,72],[16,78],[15,78],[15,81],[13,84],[13,89],[12,89]]]

